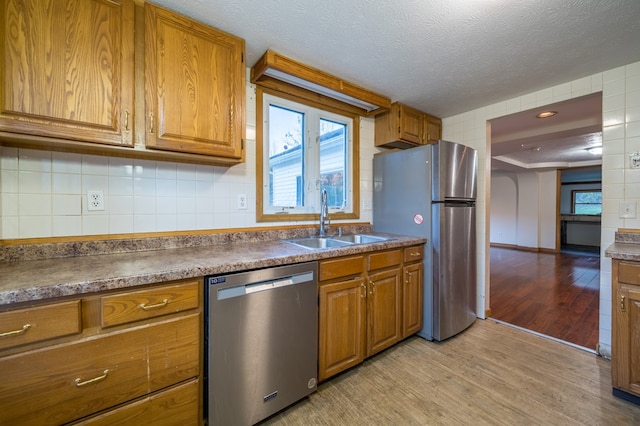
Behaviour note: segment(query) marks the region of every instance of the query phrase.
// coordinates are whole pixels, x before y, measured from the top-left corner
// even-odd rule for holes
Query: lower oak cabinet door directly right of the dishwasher
[[[363,278],[320,284],[318,379],[364,360],[366,287]]]

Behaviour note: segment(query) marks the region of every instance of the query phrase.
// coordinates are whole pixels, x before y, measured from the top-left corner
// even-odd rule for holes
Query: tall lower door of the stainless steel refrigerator
[[[469,204],[435,203],[433,338],[444,340],[476,319],[476,218]]]

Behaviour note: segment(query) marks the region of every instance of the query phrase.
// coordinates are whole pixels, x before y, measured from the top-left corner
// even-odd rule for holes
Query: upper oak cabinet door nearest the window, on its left
[[[244,40],[144,6],[146,146],[243,159]]]

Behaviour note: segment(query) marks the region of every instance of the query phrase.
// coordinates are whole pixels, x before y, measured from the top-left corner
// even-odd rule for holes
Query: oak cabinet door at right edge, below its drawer
[[[616,295],[613,385],[640,395],[640,287],[620,284]]]

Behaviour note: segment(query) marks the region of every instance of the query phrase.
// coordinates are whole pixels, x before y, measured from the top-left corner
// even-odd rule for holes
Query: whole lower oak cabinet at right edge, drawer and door
[[[611,382],[640,397],[640,262],[612,263]]]

